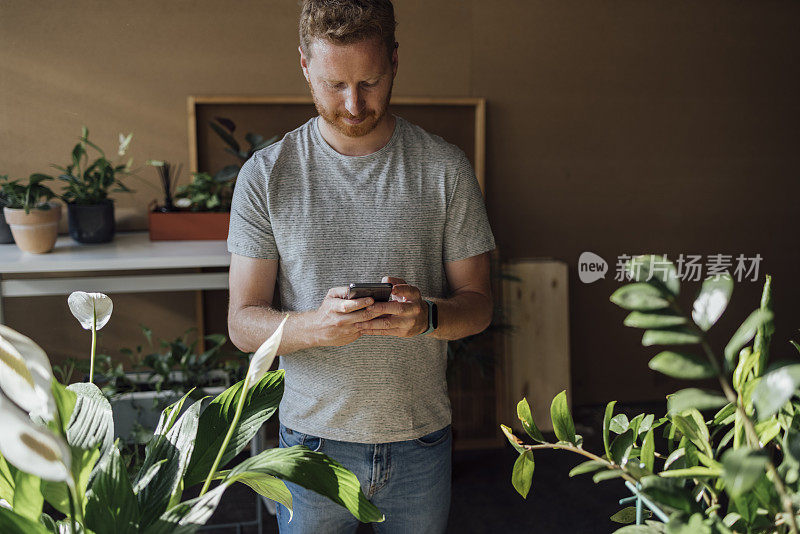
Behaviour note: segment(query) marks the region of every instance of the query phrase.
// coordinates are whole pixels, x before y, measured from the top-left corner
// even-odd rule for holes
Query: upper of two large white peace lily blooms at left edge
[[[56,410],[52,382],[53,369],[44,350],[30,338],[0,325],[0,389],[31,416],[49,421]]]

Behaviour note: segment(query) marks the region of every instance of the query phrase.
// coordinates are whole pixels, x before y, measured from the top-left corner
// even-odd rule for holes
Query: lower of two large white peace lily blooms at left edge
[[[43,480],[71,480],[72,457],[63,438],[38,426],[18,406],[0,395],[0,454],[8,463]]]

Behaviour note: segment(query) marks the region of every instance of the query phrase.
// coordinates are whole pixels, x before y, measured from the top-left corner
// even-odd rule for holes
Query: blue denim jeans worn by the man
[[[364,495],[386,516],[373,523],[379,534],[439,534],[450,511],[450,426],[419,439],[391,443],[350,443],[302,434],[281,425],[281,447],[305,445],[327,454],[355,473]],[[327,497],[286,482],[294,516],[278,504],[281,534],[352,533],[358,527],[346,508]]]

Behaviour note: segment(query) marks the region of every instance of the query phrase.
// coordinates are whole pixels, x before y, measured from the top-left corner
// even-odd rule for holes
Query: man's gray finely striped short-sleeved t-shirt
[[[256,152],[239,173],[228,250],[279,260],[285,310],[319,307],[351,282],[404,279],[446,297],[444,262],[494,249],[464,153],[397,117],[392,138],[344,156],[317,117]],[[327,439],[415,439],[450,423],[447,345],[429,336],[362,336],[344,347],[281,356],[280,420]]]

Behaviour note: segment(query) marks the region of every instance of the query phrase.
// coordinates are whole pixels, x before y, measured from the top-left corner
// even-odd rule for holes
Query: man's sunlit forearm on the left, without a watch
[[[312,312],[290,312],[283,327],[278,354],[289,354],[315,346]],[[244,352],[254,352],[271,336],[286,316],[266,306],[245,306],[236,310],[228,320],[231,341]]]

